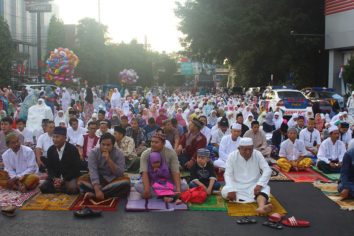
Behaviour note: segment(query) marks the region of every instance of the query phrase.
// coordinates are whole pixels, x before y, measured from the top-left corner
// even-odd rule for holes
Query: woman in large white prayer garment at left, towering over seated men
[[[44,103],[44,99],[38,99],[38,103],[28,109],[27,128],[36,134],[38,129],[42,129],[42,120],[54,120],[52,109]]]

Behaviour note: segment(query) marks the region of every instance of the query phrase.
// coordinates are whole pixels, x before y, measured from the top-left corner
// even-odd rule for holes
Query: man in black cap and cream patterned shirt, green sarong
[[[135,150],[134,139],[126,136],[125,133],[125,128],[114,127],[115,146],[123,152],[127,170],[136,172],[140,168],[140,158]]]

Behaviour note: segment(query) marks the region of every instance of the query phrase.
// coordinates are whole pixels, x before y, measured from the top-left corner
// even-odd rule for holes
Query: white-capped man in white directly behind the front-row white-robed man
[[[231,134],[222,137],[219,145],[219,159],[214,161],[214,166],[216,168],[219,168],[219,173],[225,172],[226,161],[228,156],[230,155],[231,152],[237,150],[241,139],[240,137],[242,133],[241,129],[242,126],[240,124],[235,123],[231,127]]]

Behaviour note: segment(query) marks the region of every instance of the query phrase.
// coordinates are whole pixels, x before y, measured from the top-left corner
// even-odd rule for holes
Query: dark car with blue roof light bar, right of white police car
[[[304,95],[312,102],[312,110],[314,114],[330,114],[333,103],[335,103],[340,97],[343,97],[342,94],[328,89],[311,89],[310,92],[308,92],[307,94],[305,92]],[[347,102],[344,99],[344,104],[346,103]],[[346,108],[344,108],[344,110],[347,111]]]

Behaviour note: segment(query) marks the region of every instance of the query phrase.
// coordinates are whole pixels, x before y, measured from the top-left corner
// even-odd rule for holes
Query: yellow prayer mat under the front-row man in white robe
[[[256,213],[256,209],[258,208],[258,204],[253,202],[253,203],[239,203],[239,202],[229,202],[228,200],[225,200],[226,206],[227,206],[227,214],[230,216],[270,216],[273,213],[281,213],[281,214],[286,214],[287,212],[285,209],[280,206],[279,202],[275,200],[272,194],[270,194],[270,202],[267,202],[267,204],[272,203],[274,206],[274,209],[271,213],[269,214],[259,214]]]

